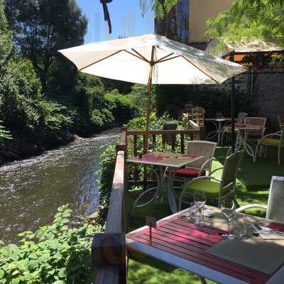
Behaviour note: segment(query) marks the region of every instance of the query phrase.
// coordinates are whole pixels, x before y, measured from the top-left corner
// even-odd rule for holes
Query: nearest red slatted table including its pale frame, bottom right
[[[283,266],[268,275],[207,253],[207,249],[223,240],[221,235],[224,231],[209,226],[198,227],[180,219],[180,215],[186,211],[160,220],[157,229],[152,229],[152,239],[146,226],[127,234],[128,249],[158,258],[217,283],[284,283]],[[269,226],[284,231],[284,224],[271,223]]]

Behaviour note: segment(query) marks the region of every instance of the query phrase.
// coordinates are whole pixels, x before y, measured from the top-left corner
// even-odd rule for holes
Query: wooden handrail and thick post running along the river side
[[[92,266],[96,284],[126,283],[126,214],[124,202],[126,170],[126,131],[116,146],[116,165],[111,188],[106,229],[96,234],[92,244]]]

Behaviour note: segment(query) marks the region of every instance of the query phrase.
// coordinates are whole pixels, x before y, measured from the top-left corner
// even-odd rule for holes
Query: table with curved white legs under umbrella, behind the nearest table
[[[136,207],[144,207],[154,200],[156,200],[159,197],[162,197],[163,192],[166,192],[168,194],[168,202],[170,204],[170,209],[173,213],[178,212],[178,205],[175,200],[175,194],[173,192],[173,174],[174,171],[178,168],[182,168],[185,165],[188,165],[190,163],[194,163],[197,160],[204,159],[204,156],[200,155],[190,155],[190,154],[183,154],[178,155],[178,158],[175,158],[175,154],[173,153],[160,153],[160,154],[146,154],[141,155],[141,157],[133,157],[127,159],[127,162],[129,163],[136,163],[136,164],[142,164],[142,165],[153,165],[158,166],[158,170],[155,170],[153,168],[153,172],[155,173],[155,176],[158,181],[158,185],[155,187],[151,187],[148,190],[141,193],[141,195],[138,196],[136,201],[133,204],[133,209]],[[168,182],[165,182],[165,168],[169,169],[169,173],[167,175]],[[141,200],[142,197],[149,194],[149,192],[154,192],[153,197],[151,200],[149,200],[146,203],[138,204],[138,201]]]

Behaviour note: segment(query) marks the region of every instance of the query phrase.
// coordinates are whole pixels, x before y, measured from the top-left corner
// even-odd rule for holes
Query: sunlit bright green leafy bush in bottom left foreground
[[[91,283],[91,244],[100,228],[70,222],[72,210],[58,208],[53,224],[25,231],[21,245],[0,249],[1,284]]]

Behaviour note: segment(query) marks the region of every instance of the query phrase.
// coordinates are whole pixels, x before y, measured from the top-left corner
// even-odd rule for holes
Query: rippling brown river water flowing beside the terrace
[[[90,214],[99,203],[100,156],[119,131],[77,140],[43,155],[0,168],[0,239],[50,224],[56,209],[70,204]]]

